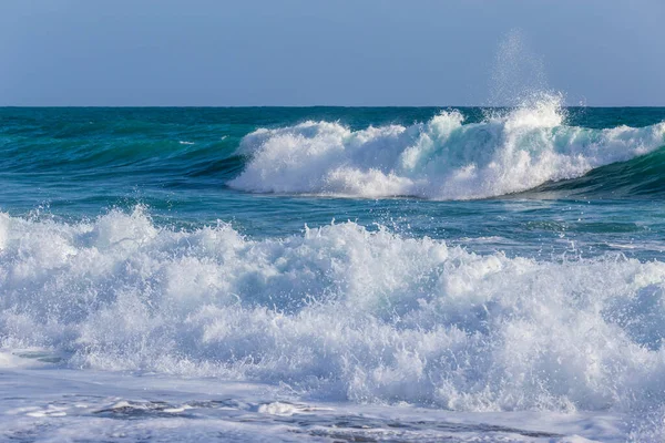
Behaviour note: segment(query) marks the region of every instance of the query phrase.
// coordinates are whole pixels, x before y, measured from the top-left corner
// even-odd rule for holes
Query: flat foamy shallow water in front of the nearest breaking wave
[[[653,427],[627,426],[621,413],[293,402],[265,383],[53,368],[8,370],[2,379],[0,429],[8,441],[662,441]]]

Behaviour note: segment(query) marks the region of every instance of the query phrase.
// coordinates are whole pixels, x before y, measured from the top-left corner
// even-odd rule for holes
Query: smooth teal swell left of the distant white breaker
[[[66,111],[62,122],[52,115],[47,115],[43,122],[25,119],[13,125],[2,122],[2,172],[78,181],[146,177],[168,185],[171,181],[183,183],[188,177],[212,177],[218,184],[242,171],[243,158],[234,155],[234,151],[246,130],[235,128],[229,134],[225,124],[188,126],[132,120],[124,114],[89,121],[93,116],[99,119],[96,113],[91,111],[92,115],[82,114],[79,120],[74,119],[78,114],[69,116],[73,122],[65,119]]]

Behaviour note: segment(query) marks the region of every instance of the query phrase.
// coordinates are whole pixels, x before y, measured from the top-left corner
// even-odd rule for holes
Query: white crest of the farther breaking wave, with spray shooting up
[[[473,199],[581,177],[665,145],[665,122],[645,127],[564,124],[557,97],[464,124],[458,111],[411,126],[351,131],[308,121],[245,136],[249,157],[229,186],[253,193]]]

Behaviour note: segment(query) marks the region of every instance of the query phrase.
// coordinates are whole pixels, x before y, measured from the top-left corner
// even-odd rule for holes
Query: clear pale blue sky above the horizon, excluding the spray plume
[[[0,0],[0,105],[481,105],[515,29],[569,104],[665,105],[665,0]]]

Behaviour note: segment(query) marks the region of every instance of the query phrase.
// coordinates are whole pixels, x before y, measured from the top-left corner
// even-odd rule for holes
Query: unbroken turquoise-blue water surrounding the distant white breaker
[[[487,115],[482,109],[457,110],[466,117],[464,124],[478,124]],[[389,193],[340,198],[311,195],[316,189],[252,193],[228,185],[249,161],[238,155],[243,137],[258,128],[326,121],[362,131],[428,122],[441,111],[2,109],[0,208],[12,216],[80,220],[112,208],[131,210],[144,205],[163,226],[198,228],[223,220],[253,237],[285,236],[300,233],[305,225],[354,220],[370,229],[379,224],[407,236],[459,244],[480,237],[485,239],[482,245],[467,241],[467,246],[507,254],[546,256],[573,247],[580,255],[621,250],[644,259],[657,257],[659,249],[640,247],[659,241],[663,231],[665,152],[657,141],[648,155],[576,174],[581,178],[545,181],[523,192],[481,195],[487,198],[473,200]],[[564,114],[565,126],[592,131],[654,127],[665,121],[665,109],[653,107],[573,107]],[[491,237],[501,239],[492,241]]]

